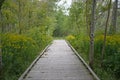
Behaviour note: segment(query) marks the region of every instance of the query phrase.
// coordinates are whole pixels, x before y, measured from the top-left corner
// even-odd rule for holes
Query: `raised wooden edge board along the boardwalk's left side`
[[[30,72],[30,70],[32,69],[32,67],[36,64],[36,62],[41,58],[41,56],[47,51],[48,47],[51,44],[48,44],[45,49],[40,53],[40,55],[38,55],[38,57],[32,62],[32,64],[26,69],[26,71],[19,77],[18,80],[23,80],[27,74]]]

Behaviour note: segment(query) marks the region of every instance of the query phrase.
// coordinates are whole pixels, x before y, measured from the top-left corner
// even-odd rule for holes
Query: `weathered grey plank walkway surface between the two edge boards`
[[[95,80],[65,40],[54,40],[23,80]]]

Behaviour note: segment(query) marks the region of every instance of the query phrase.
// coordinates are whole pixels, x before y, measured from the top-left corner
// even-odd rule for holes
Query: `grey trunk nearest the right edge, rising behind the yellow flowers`
[[[117,6],[118,6],[118,0],[115,0],[113,3],[113,10],[112,10],[112,21],[109,33],[115,34],[116,33],[116,23],[117,23]]]

